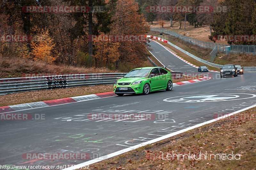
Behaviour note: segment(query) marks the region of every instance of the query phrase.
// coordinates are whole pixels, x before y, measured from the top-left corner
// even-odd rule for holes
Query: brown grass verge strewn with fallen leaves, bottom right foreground
[[[99,163],[91,169],[254,169],[256,157],[256,107],[239,115],[251,119],[223,119],[147,145]],[[237,115],[237,116],[239,116]],[[240,154],[240,160],[163,160],[162,153]],[[198,158],[198,156],[197,156]],[[204,158],[204,157],[203,157]],[[238,158],[238,157],[236,157]]]

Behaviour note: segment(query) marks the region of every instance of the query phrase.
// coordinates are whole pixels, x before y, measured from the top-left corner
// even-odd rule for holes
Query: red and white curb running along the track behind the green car
[[[211,78],[203,77],[203,78],[198,78],[194,80],[182,81],[178,83],[173,83],[173,87],[180,86],[180,85],[187,85],[191,83],[198,83],[198,82],[209,80],[209,79]],[[81,102],[81,101],[87,101],[87,100],[95,100],[95,99],[101,99],[101,98],[113,97],[113,96],[116,96],[114,92],[105,92],[105,93],[90,94],[90,95],[77,96],[77,97],[68,97],[68,98],[57,99],[57,100],[39,101],[39,102],[25,103],[25,104],[19,104],[19,105],[4,106],[4,107],[0,107],[0,114],[35,109],[35,108],[63,105],[63,104],[75,103],[75,102]]]

